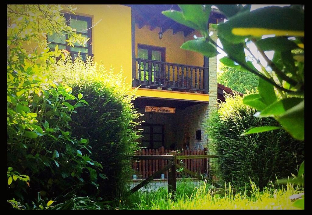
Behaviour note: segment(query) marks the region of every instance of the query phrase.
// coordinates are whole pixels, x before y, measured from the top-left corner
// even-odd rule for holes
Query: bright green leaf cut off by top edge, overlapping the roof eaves
[[[200,4],[179,4],[178,6],[187,21],[195,23],[198,30],[207,32],[211,5],[206,5],[205,11]]]

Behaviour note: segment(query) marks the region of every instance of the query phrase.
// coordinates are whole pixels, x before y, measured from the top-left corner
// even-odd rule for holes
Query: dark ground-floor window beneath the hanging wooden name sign
[[[163,125],[142,123],[142,147],[159,148],[164,146]]]

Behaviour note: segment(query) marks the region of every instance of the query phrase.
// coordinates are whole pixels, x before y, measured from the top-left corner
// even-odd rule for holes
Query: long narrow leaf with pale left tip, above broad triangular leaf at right
[[[282,100],[276,101],[266,107],[261,112],[255,114],[256,117],[273,117],[284,114],[288,109],[296,106],[302,102],[303,98],[284,98]]]

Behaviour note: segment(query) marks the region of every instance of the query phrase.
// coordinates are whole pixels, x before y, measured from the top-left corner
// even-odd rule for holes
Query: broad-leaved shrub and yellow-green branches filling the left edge
[[[95,183],[90,172],[101,168],[89,158],[87,140],[72,136],[69,125],[72,114],[85,105],[82,96],[43,74],[51,66],[47,59],[65,55],[57,47],[49,52],[42,35],[66,33],[69,42],[85,42],[66,25],[62,9],[7,5],[7,167],[15,171],[8,174],[8,198],[20,204],[31,203],[38,192],[53,199],[64,190],[80,190]],[[27,183],[14,180],[19,176]]]

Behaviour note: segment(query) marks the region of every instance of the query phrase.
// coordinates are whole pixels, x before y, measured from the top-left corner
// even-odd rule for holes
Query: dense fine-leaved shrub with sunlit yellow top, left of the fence
[[[103,173],[95,178],[100,197],[118,198],[130,178],[129,156],[137,149],[135,140],[139,137],[134,119],[140,114],[131,103],[136,98],[134,92],[129,91],[131,84],[125,83],[122,71],[118,74],[114,74],[112,68],[106,71],[90,57],[86,63],[80,57],[74,62],[67,58],[53,67],[50,78],[72,86],[73,92],[83,94],[89,104],[72,115],[72,134],[89,139],[90,158],[103,166]]]

